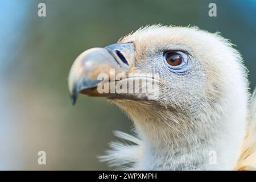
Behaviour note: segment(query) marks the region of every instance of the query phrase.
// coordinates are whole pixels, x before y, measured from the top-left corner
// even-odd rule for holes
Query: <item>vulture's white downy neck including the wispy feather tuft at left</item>
[[[138,146],[112,143],[112,151],[101,157],[112,166],[133,163],[125,169],[139,170],[231,170],[236,167],[246,128],[247,92],[229,94],[218,104],[213,115],[192,121],[172,121],[172,126],[159,125],[174,119],[172,112],[162,114],[133,101],[115,101],[133,119],[139,139],[118,133]],[[236,99],[234,99],[236,98]],[[129,104],[129,102],[131,102]],[[143,113],[143,114],[138,114]],[[166,117],[169,115],[169,118]],[[211,120],[211,121],[210,121]],[[180,122],[180,123],[179,123]],[[163,127],[160,127],[163,126]],[[123,137],[125,136],[125,137]]]

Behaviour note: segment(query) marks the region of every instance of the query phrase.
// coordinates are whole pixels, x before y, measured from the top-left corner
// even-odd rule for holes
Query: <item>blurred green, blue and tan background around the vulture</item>
[[[38,3],[46,3],[46,17]],[[209,17],[209,3],[217,17]],[[0,0],[0,169],[111,169],[98,162],[113,130],[133,127],[104,98],[71,105],[76,56],[147,24],[196,25],[237,45],[256,84],[256,1]],[[38,165],[38,151],[47,164]]]

